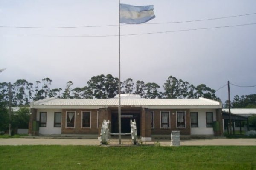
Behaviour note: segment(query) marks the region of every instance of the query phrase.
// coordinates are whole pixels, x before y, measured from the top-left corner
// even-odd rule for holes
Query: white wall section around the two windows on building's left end
[[[62,112],[61,109],[38,109],[37,115],[36,115],[37,121],[39,121],[40,119],[40,112],[47,112],[47,117],[46,117],[46,127],[39,127],[39,134],[41,135],[61,134],[61,127],[54,127],[54,112]]]

